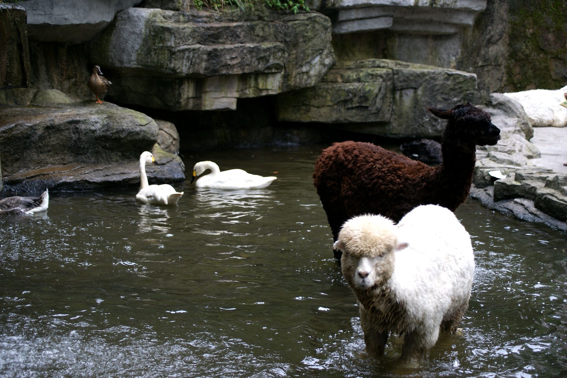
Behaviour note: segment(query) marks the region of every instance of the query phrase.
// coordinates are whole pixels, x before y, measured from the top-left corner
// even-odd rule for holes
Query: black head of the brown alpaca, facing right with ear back
[[[490,121],[490,114],[473,106],[458,104],[449,110],[428,108],[436,117],[447,120],[443,139],[458,139],[461,143],[494,146],[500,140],[500,129]]]

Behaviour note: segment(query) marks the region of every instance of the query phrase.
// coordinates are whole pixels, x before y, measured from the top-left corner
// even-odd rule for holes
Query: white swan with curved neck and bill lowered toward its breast
[[[197,176],[201,176],[207,169],[210,169],[211,173],[197,179]],[[207,160],[194,165],[191,182],[195,179],[197,179],[197,182],[195,182],[197,188],[261,189],[272,184],[272,181],[276,180],[277,177],[252,175],[242,169],[229,169],[221,172],[217,164]]]

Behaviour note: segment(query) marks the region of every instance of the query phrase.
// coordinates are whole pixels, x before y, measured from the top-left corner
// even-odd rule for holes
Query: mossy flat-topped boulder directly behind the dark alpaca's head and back
[[[426,108],[472,100],[476,75],[416,63],[338,61],[312,88],[278,95],[278,120],[323,122],[381,137],[440,137],[445,122]]]

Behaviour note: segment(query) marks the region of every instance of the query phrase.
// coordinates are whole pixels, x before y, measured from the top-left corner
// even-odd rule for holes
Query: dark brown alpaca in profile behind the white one
[[[428,111],[447,120],[443,161],[437,167],[372,143],[340,142],[323,150],[313,179],[333,240],[354,215],[380,214],[398,222],[416,206],[432,203],[455,211],[468,197],[476,145],[496,145],[500,129],[492,124],[490,114],[470,103]],[[340,259],[340,250],[334,252]]]

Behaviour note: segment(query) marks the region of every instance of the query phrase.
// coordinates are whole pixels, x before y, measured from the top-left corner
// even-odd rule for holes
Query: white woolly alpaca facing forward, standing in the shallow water
[[[405,334],[401,358],[427,358],[439,330],[454,333],[468,308],[475,261],[468,232],[438,205],[418,206],[396,225],[359,215],[342,226],[342,274],[360,308],[366,350],[384,352],[388,334]]]

